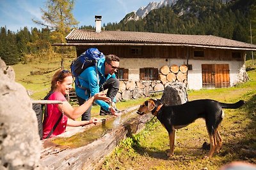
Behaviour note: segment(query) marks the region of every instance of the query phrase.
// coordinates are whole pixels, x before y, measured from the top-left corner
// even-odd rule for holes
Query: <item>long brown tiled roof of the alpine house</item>
[[[95,32],[84,29],[73,29],[66,36],[66,39],[66,45],[168,45],[256,51],[256,45],[211,35],[131,31]]]

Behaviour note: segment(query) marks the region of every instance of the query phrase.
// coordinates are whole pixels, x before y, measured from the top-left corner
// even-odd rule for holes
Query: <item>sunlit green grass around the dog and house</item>
[[[70,61],[65,60],[65,68]],[[60,59],[17,64],[15,70],[18,83],[32,94],[32,99],[42,99],[50,89],[51,77],[60,68]],[[252,66],[252,62],[247,62]],[[253,66],[255,67],[255,66]],[[223,146],[212,159],[202,159],[207,154],[202,144],[209,138],[202,119],[177,131],[175,155],[166,157],[169,149],[168,134],[157,120],[148,122],[145,130],[127,138],[109,155],[102,169],[219,169],[223,164],[241,160],[256,164],[256,70],[248,71],[250,80],[236,87],[214,90],[189,90],[189,101],[195,99],[215,99],[234,103],[244,99],[246,104],[237,110],[225,110],[220,134]],[[160,96],[156,96],[158,98]],[[120,110],[143,103],[146,99],[117,103]],[[92,117],[99,116],[99,106],[93,106]]]

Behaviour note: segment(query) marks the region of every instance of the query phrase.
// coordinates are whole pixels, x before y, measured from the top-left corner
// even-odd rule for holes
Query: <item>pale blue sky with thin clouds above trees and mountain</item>
[[[109,22],[120,22],[127,13],[138,10],[141,6],[147,6],[150,2],[160,0],[76,0],[74,18],[79,22],[78,26],[95,26],[95,15],[102,16],[102,25]],[[10,31],[19,31],[24,27],[38,27],[32,19],[42,20],[40,8],[47,10],[47,0],[0,0],[0,27]]]

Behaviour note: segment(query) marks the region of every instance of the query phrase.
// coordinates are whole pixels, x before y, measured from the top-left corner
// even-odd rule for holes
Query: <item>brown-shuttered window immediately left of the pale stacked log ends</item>
[[[140,69],[140,80],[157,80],[158,69],[157,68],[141,68]]]

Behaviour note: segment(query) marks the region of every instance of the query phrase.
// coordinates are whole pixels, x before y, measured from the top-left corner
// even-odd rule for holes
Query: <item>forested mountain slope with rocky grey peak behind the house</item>
[[[104,28],[106,31],[214,35],[247,42],[250,20],[256,20],[255,11],[255,0],[164,0],[149,3],[127,14],[119,23],[107,24]]]

